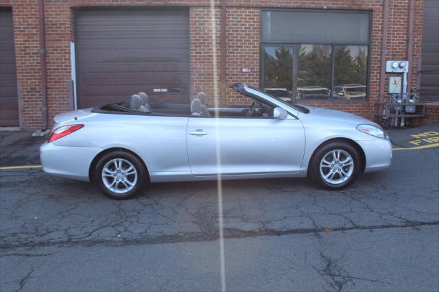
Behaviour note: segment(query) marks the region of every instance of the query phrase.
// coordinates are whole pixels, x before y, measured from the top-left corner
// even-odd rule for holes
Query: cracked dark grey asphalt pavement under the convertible
[[[439,148],[394,151],[345,191],[305,179],[223,191],[228,291],[439,291]],[[113,201],[40,169],[0,172],[0,291],[219,291],[218,236],[216,182]]]

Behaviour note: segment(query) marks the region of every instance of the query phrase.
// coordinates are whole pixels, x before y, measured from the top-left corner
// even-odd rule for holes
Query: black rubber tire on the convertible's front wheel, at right
[[[353,160],[353,170],[351,175],[344,181],[336,184],[332,184],[330,182],[327,182],[323,178],[323,175],[320,171],[320,162],[322,162],[322,158],[327,156],[331,151],[334,150],[342,150],[346,151],[347,154],[349,154]],[[309,177],[313,182],[316,184],[322,186],[323,188],[326,188],[327,190],[341,190],[342,188],[346,188],[347,186],[350,186],[358,177],[360,171],[361,171],[361,158],[359,156],[358,150],[353,147],[353,145],[343,142],[343,141],[335,141],[328,143],[327,145],[324,145],[320,147],[316,153],[313,155],[313,158],[311,160],[311,163],[309,164]],[[329,165],[331,167],[332,165]],[[328,167],[329,172],[331,169]],[[343,167],[340,167],[343,169]],[[347,169],[347,168],[346,168]],[[337,172],[338,169],[332,169],[332,171]],[[327,174],[327,173],[324,173]],[[337,175],[337,173],[336,173]],[[340,175],[340,178],[342,176]]]

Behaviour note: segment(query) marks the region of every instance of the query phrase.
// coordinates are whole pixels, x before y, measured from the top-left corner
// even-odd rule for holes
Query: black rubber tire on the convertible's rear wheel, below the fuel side
[[[115,192],[110,190],[110,188],[108,188],[104,182],[104,178],[102,177],[102,170],[104,169],[104,167],[106,166],[106,164],[110,161],[114,161],[115,159],[120,159],[123,162],[123,167],[129,167],[130,165],[128,165],[127,162],[129,162],[132,167],[134,167],[135,171],[137,171],[137,178],[135,180],[135,182],[132,184],[131,189],[128,191],[125,191],[123,193],[119,193],[119,192]],[[111,164],[114,166],[114,164]],[[117,171],[117,169],[115,169],[115,172]],[[117,171],[119,173],[117,173],[117,175],[121,175],[121,171]],[[123,173],[123,175],[126,175],[126,173]],[[141,193],[141,191],[143,190],[143,188],[145,187],[145,184],[147,182],[147,171],[145,170],[145,167],[143,167],[142,162],[139,160],[139,158],[137,158],[136,156],[125,152],[125,151],[113,151],[110,152],[108,154],[105,154],[104,156],[102,156],[99,161],[96,164],[96,167],[94,169],[94,173],[93,173],[93,178],[95,183],[97,184],[97,186],[99,187],[99,190],[102,191],[102,193],[104,193],[104,195],[112,198],[112,199],[130,199],[131,197],[134,197],[135,195]],[[128,182],[128,173],[126,176],[127,180],[125,180],[126,182]],[[134,178],[134,176],[132,175],[130,178]],[[114,179],[115,178],[111,178],[110,179]],[[110,180],[108,179],[108,180]],[[107,180],[107,184],[108,184],[108,180]],[[119,180],[119,179],[118,179]],[[123,178],[120,178],[120,180],[123,180]],[[122,187],[120,187],[121,182],[118,184],[118,186],[116,186],[117,190],[116,191],[123,191],[124,189],[126,189],[126,187],[124,187],[122,185]],[[126,184],[125,184],[126,185]],[[121,188],[119,190],[119,188]]]

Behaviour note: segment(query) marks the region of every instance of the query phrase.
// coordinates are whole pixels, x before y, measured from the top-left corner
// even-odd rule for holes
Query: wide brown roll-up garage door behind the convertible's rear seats
[[[80,10],[75,20],[78,108],[139,91],[189,102],[188,10]]]

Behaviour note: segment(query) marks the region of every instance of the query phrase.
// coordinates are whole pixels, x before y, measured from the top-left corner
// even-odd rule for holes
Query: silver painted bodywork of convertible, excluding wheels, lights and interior
[[[364,151],[364,171],[390,166],[392,144],[356,130],[367,119],[336,110],[292,106],[246,88],[289,112],[287,119],[175,117],[108,114],[91,109],[58,114],[56,127],[84,124],[40,147],[43,170],[89,180],[93,159],[108,149],[128,149],[145,163],[151,182],[305,177],[311,156],[333,138],[355,141]]]

